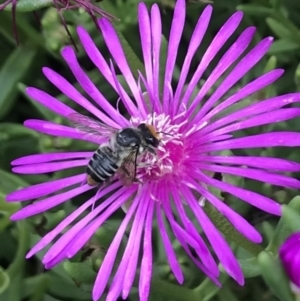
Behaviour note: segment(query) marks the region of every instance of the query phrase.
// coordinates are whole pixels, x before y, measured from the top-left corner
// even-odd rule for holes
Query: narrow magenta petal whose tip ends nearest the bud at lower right
[[[185,185],[199,192],[204,198],[206,198],[220,213],[222,213],[231,222],[236,230],[239,231],[242,235],[255,243],[260,243],[262,241],[260,233],[251,224],[249,224],[241,215],[237,214],[225,203],[220,201],[207,189],[198,184],[196,181],[192,180],[190,177],[187,178],[184,182]]]

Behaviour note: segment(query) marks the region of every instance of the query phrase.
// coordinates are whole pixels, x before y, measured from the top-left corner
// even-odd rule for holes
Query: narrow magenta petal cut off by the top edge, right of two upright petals
[[[181,40],[185,21],[185,0],[177,0],[174,8],[171,32],[168,43],[167,61],[165,67],[164,91],[163,91],[163,109],[169,112],[170,98],[169,89],[166,84],[171,83],[174,66],[177,58],[178,46]]]

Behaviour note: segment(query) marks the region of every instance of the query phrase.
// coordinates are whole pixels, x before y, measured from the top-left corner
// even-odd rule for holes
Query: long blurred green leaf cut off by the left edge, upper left
[[[27,74],[34,61],[36,50],[17,47],[0,70],[0,118],[12,108],[16,97],[16,85]]]

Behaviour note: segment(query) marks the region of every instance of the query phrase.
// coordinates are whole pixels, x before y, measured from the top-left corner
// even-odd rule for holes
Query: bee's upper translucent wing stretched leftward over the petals
[[[93,136],[98,139],[110,137],[118,130],[101,121],[79,113],[70,114],[68,119],[72,122],[76,129],[85,132],[88,136]]]

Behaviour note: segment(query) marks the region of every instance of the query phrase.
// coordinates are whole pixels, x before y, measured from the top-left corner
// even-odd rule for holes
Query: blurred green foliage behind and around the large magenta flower
[[[153,2],[152,0],[146,0],[149,6]],[[189,38],[201,11],[206,5],[205,2],[207,1],[195,0],[187,3],[187,20],[177,60],[177,69],[174,72],[174,83],[178,79]],[[64,2],[62,1],[62,3]],[[115,21],[115,24],[120,35],[124,37],[124,41],[128,43],[127,46],[132,48],[135,55],[141,58],[141,48],[137,38],[137,3],[138,0],[104,0],[104,2],[95,3],[95,5],[107,10],[119,19],[119,21]],[[0,300],[88,301],[91,300],[92,283],[101,264],[101,259],[105,254],[105,248],[112,239],[123,217],[123,213],[118,212],[104,227],[99,229],[89,245],[74,259],[57,266],[51,271],[44,270],[41,264],[40,259],[43,252],[40,252],[30,260],[25,260],[25,254],[40,236],[52,229],[78,204],[84,202],[88,196],[79,196],[64,206],[59,206],[48,213],[35,216],[27,221],[12,223],[9,220],[11,213],[18,210],[21,205],[18,203],[6,203],[5,195],[7,193],[20,187],[60,178],[76,172],[72,169],[37,176],[13,175],[10,173],[11,160],[33,153],[95,149],[95,146],[86,142],[45,136],[22,126],[24,120],[29,118],[51,120],[57,123],[65,122],[59,116],[54,115],[54,113],[29,99],[24,93],[26,86],[39,87],[74,107],[74,103],[61,95],[42,76],[41,68],[43,66],[51,67],[71,82],[74,82],[75,86],[77,84],[60,56],[62,47],[70,44],[71,41],[52,1],[20,0],[19,4],[16,15],[19,46],[16,45],[13,35],[11,7],[7,7],[6,10],[0,12]],[[166,49],[174,0],[161,0],[158,4],[162,9],[163,33],[166,37],[163,49]],[[22,5],[25,5],[27,9],[22,11],[22,7],[24,7]],[[30,5],[33,5],[33,8],[36,9],[35,14],[24,12],[32,10]],[[260,91],[251,99],[246,99],[240,105],[300,90],[299,1],[216,0],[212,5],[214,7],[213,17],[203,43],[193,61],[191,74],[196,69],[211,39],[225,20],[236,10],[243,10],[245,15],[242,24],[226,47],[230,45],[230,42],[234,40],[237,34],[252,25],[257,27],[252,46],[269,35],[274,36],[275,41],[268,55],[243,78],[231,93],[256,76],[275,67],[284,68],[286,70],[284,76],[271,87]],[[63,6],[60,7],[62,8]],[[105,57],[109,58],[101,34],[92,18],[84,9],[67,9],[62,11],[62,15],[78,48],[77,55],[81,65],[107,99],[116,104],[117,95],[88,60],[76,36],[76,25],[83,25],[90,32]],[[209,71],[212,70],[217,59],[224,53],[226,47],[209,66],[203,80],[205,80]],[[138,62],[133,60],[132,64],[136,66]],[[200,86],[201,82],[199,83]],[[124,114],[126,113],[124,112]],[[245,130],[237,133],[237,135],[288,129],[300,131],[300,122],[291,120],[280,124]],[[241,154],[239,151],[236,153]],[[300,154],[297,148],[249,150],[246,154],[277,156],[300,161]],[[299,178],[299,174],[295,176]],[[241,180],[228,176],[223,176],[223,180],[234,182],[242,187],[267,195],[282,204],[288,204],[297,195],[297,191],[271,187],[268,184],[257,183],[251,180]],[[299,298],[291,293],[276,253],[278,245],[287,234],[300,229],[300,226],[297,224],[300,217],[297,213],[300,211],[300,199],[294,198],[289,206],[284,207],[284,216],[279,221],[278,218],[264,214],[222,192],[215,191],[215,193],[234,207],[236,211],[243,214],[264,236],[262,247],[253,249],[252,253],[249,250],[253,246],[246,250],[247,245],[241,247],[236,244],[238,239],[232,239],[232,237],[231,240],[229,239],[247,277],[246,285],[239,287],[222,272],[221,282],[223,287],[221,289],[217,288],[204,278],[202,273],[187,258],[176,240],[174,240],[174,248],[185,274],[184,288],[175,286],[175,280],[167,264],[163,247],[157,235],[155,235],[155,268],[151,300],[171,301],[178,298],[179,300],[190,301],[189,293],[191,290],[189,289],[192,289],[192,292],[196,292],[197,300],[201,301],[290,301]],[[214,215],[215,212],[211,210],[210,214]],[[219,217],[217,220],[220,221],[218,226],[222,228],[222,218]],[[226,221],[224,222],[226,223]],[[199,231],[201,230],[199,229]],[[226,235],[226,231],[223,232]],[[124,237],[124,243],[126,243],[126,237]],[[260,253],[263,248],[266,248],[266,251]],[[260,254],[256,257],[255,255],[258,253]],[[128,300],[138,300],[137,290],[132,291]]]

